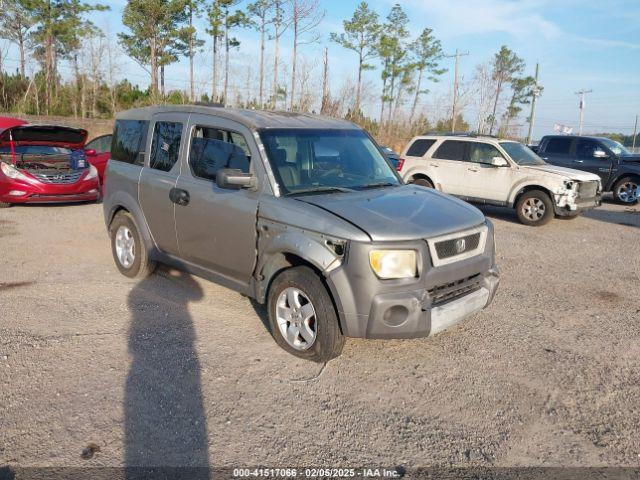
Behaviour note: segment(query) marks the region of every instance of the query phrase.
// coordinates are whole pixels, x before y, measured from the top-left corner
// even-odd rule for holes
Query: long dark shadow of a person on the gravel
[[[129,293],[131,365],[125,384],[125,477],[209,478],[200,362],[188,274],[160,270]],[[176,477],[177,478],[177,477]]]

